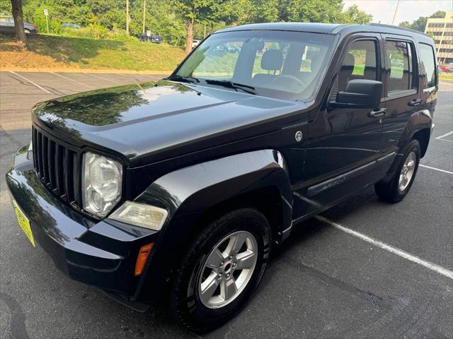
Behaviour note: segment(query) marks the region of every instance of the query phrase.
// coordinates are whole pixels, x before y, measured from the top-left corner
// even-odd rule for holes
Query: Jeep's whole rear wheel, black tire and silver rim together
[[[420,162],[420,143],[413,140],[409,143],[400,165],[389,182],[378,182],[374,191],[384,201],[397,203],[403,200],[411,189]]]

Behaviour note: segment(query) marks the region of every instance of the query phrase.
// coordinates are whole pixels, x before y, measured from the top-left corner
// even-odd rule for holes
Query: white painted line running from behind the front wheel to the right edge
[[[390,246],[388,244],[385,244],[384,242],[380,242],[379,240],[374,239],[372,237],[368,237],[365,234],[362,234],[355,230],[351,230],[348,227],[344,227],[340,224],[337,224],[336,222],[328,220],[327,218],[321,217],[321,215],[317,215],[315,218],[321,222],[326,222],[326,224],[335,227],[337,230],[351,234],[354,237],[357,237],[359,239],[364,240],[365,242],[369,242],[370,244],[373,244],[374,246],[378,246],[379,248],[385,249],[386,251],[396,254],[397,256],[401,256],[401,258],[405,258],[408,261],[412,261],[413,263],[418,263],[421,266],[425,266],[426,268],[429,268],[430,270],[433,270],[437,273],[445,275],[447,278],[453,279],[453,272],[451,270],[447,270],[447,268],[438,266],[435,263],[430,263],[429,261],[425,261],[422,258],[418,258],[418,256],[413,256],[412,254],[409,254],[408,252],[403,251],[402,249],[397,249],[394,246]]]

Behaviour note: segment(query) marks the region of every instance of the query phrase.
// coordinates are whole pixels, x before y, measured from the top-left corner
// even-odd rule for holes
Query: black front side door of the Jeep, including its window
[[[345,90],[350,80],[382,81],[382,76],[380,35],[352,37],[329,102],[336,100],[336,93]],[[379,157],[385,114],[383,99],[381,104],[376,109],[326,105],[309,124],[304,143],[303,182],[298,192],[304,199],[294,204],[298,216],[333,203],[378,179],[367,164]]]

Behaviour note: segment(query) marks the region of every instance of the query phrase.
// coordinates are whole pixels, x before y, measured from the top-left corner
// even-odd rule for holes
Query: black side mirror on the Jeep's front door
[[[374,80],[350,80],[344,91],[337,93],[333,107],[370,108],[379,107],[382,82]]]

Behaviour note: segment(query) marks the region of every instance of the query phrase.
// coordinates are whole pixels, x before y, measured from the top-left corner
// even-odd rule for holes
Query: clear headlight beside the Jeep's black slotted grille
[[[108,157],[87,152],[82,168],[84,209],[105,217],[121,199],[122,166]]]

